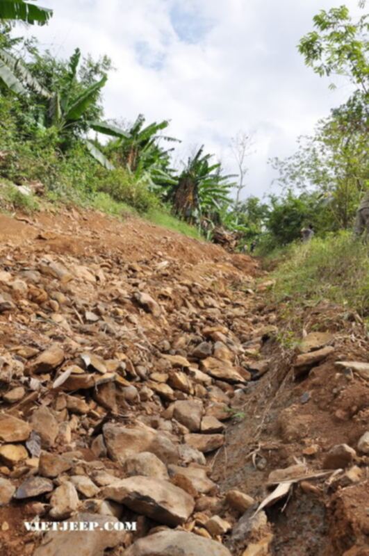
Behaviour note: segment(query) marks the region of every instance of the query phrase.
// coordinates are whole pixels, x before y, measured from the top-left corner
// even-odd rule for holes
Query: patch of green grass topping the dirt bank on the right
[[[284,250],[272,277],[276,302],[293,306],[325,299],[369,316],[369,245],[348,232]]]

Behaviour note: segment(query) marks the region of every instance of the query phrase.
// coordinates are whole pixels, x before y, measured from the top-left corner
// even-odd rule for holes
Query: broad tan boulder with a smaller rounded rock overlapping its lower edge
[[[109,457],[120,464],[140,452],[152,452],[165,464],[175,464],[179,459],[177,445],[151,427],[128,428],[106,423],[103,432]]]

